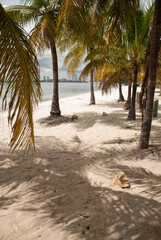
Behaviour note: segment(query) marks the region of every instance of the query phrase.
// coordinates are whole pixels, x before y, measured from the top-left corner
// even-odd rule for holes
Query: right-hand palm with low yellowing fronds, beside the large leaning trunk
[[[110,48],[106,44],[104,50],[99,47],[100,51],[95,51],[96,56],[94,56],[94,52],[93,55],[88,56],[86,60],[92,59],[92,63],[88,64],[82,72],[82,75],[86,75],[91,67],[95,68],[98,72],[97,79],[101,80],[100,86],[105,92],[121,80],[127,80],[133,73],[133,94],[128,114],[129,120],[135,120],[137,78],[145,57],[152,12],[153,6],[146,12],[138,10],[131,27],[122,29],[123,43],[119,47]]]

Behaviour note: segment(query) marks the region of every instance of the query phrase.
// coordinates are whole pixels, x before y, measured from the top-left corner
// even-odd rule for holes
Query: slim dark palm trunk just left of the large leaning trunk
[[[137,90],[137,75],[138,75],[138,66],[136,64],[134,70],[134,82],[133,82],[133,92],[132,92],[132,101],[130,106],[130,111],[127,116],[127,120],[135,120],[135,99],[136,99],[136,90]]]

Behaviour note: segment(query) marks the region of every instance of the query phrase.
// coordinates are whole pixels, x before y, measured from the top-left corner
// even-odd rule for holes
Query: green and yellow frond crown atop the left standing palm
[[[26,6],[10,6],[9,14],[21,24],[35,22],[30,41],[40,51],[50,48],[51,42],[56,41],[58,12],[61,1],[26,0]]]

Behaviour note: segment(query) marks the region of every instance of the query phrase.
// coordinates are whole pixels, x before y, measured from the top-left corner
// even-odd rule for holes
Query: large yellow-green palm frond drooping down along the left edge
[[[11,149],[34,148],[33,106],[41,98],[39,64],[27,33],[0,4],[0,97],[10,94]],[[4,106],[3,106],[4,108]]]

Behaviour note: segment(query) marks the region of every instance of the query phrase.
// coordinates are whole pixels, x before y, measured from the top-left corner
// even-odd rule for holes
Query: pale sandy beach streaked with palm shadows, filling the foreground
[[[124,96],[127,87],[123,88]],[[34,111],[36,152],[9,154],[6,113],[0,117],[0,240],[160,240],[161,108],[149,149],[139,150],[141,115],[127,121],[118,90],[96,105],[89,94],[61,99],[63,116],[41,125],[50,101]],[[107,113],[102,116],[102,113]],[[131,187],[113,184],[123,171]]]

